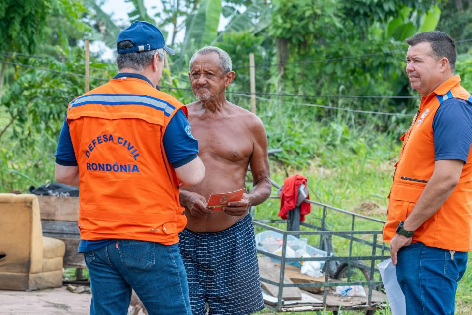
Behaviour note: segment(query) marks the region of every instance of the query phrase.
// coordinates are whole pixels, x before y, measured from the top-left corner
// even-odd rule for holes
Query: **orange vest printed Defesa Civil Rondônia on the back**
[[[178,242],[187,219],[162,139],[179,108],[187,115],[177,99],[131,77],[112,79],[70,102],[81,239]]]

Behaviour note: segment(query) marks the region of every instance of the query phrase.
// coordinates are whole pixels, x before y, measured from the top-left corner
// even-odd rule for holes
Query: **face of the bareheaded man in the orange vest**
[[[442,58],[434,56],[431,44],[422,42],[408,47],[405,68],[413,89],[421,95],[428,95],[441,83],[444,71]]]

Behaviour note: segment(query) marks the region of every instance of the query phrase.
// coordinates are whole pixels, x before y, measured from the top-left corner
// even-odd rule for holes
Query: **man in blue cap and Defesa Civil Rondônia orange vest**
[[[164,51],[174,53],[150,23],[120,32],[120,73],[70,102],[59,136],[56,180],[80,188],[91,315],[126,314],[132,289],[149,314],[191,315],[178,187],[205,167],[186,107],[155,88]]]

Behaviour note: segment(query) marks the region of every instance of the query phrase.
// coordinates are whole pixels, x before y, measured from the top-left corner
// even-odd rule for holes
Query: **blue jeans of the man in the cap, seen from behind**
[[[176,245],[117,240],[85,252],[90,315],[126,315],[134,289],[149,315],[191,315],[188,283]]]

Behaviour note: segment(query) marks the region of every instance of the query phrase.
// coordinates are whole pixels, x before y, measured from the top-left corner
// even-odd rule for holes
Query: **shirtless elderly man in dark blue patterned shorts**
[[[233,82],[231,59],[204,47],[190,59],[190,82],[198,101],[187,105],[192,134],[206,168],[197,186],[180,190],[187,227],[179,248],[187,271],[193,315],[245,315],[264,308],[249,206],[265,201],[271,184],[267,136],[261,120],[226,100]],[[206,207],[211,193],[245,187],[251,166],[254,188],[222,211]]]

